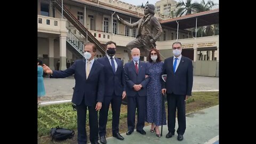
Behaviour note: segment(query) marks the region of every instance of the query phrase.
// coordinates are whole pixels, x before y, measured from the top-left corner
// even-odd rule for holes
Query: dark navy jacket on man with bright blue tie
[[[173,57],[164,60],[163,74],[167,74],[166,83],[162,81],[162,88],[166,93],[191,95],[193,86],[192,60],[182,55],[179,66],[173,73]]]

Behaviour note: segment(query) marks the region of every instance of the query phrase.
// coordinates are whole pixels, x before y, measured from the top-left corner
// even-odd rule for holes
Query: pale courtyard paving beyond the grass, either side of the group
[[[73,95],[72,87],[75,86],[74,76],[67,78],[44,77],[46,95],[42,97],[44,103],[54,103],[54,101],[71,100]],[[194,76],[193,91],[219,90],[219,77]],[[65,101],[65,102],[66,102]]]

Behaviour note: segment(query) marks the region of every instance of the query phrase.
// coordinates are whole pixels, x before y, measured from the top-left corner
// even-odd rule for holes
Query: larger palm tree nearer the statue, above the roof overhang
[[[186,12],[186,15],[191,14],[192,12],[198,12],[202,9],[201,4],[191,3],[191,0],[186,0],[186,4],[183,1],[178,2],[177,6],[179,9],[176,12],[176,17],[181,17]]]

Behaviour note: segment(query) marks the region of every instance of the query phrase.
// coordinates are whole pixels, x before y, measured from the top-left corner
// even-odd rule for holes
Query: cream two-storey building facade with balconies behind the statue
[[[118,13],[119,17],[125,21],[134,23],[143,17],[141,7],[116,0],[63,0],[63,5],[69,14],[73,15],[101,44],[105,45],[108,41],[116,42],[116,57],[121,59],[123,63],[129,61],[126,44],[135,39],[137,28],[130,29],[122,25],[118,22],[116,14]],[[82,51],[84,43],[88,41],[87,36],[83,35],[82,31],[78,30],[70,20],[62,16],[62,10],[57,9],[53,1],[38,0],[37,10],[38,59],[43,60],[51,69],[57,69],[56,63],[60,60],[60,70],[66,69],[68,60],[71,62],[72,60],[81,59],[82,54],[75,53],[73,49]],[[162,21],[161,17],[156,14],[155,16],[159,22]],[[190,41],[192,42],[194,39],[190,31],[179,29],[177,38],[177,29],[164,25],[162,25],[162,28],[163,34],[156,42],[157,49],[163,55],[162,59],[172,56],[172,43],[177,39],[187,44],[184,49],[194,50],[189,45]],[[105,55],[105,53],[97,51],[97,58]],[[218,59],[217,55],[215,54],[213,60]],[[141,57],[141,60],[146,61],[147,59]]]

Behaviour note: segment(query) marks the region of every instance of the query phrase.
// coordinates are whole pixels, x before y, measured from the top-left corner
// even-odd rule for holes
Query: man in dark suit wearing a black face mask
[[[105,93],[99,117],[99,136],[101,143],[107,143],[106,125],[108,121],[108,109],[111,102],[112,109],[112,135],[124,140],[119,134],[119,116],[122,99],[125,98],[124,68],[121,60],[115,58],[116,43],[109,41],[106,43],[107,55],[97,61],[104,65],[105,71]]]

